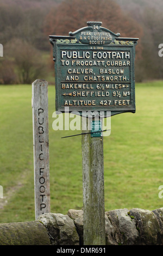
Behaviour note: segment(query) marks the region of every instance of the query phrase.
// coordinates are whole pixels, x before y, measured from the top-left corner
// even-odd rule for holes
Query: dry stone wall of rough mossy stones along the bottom
[[[106,245],[163,245],[163,208],[105,212]],[[83,245],[83,211],[0,224],[0,245]]]

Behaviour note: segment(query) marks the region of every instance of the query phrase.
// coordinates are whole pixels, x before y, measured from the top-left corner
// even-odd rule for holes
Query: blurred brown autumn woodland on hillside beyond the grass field
[[[87,21],[122,37],[139,38],[136,82],[162,80],[162,0],[0,0],[0,84],[29,84],[37,78],[54,83],[49,35],[68,35]]]

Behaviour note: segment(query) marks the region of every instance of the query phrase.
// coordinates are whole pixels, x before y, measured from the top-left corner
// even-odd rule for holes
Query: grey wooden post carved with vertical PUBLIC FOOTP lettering
[[[32,84],[35,219],[50,212],[48,83],[38,79]]]

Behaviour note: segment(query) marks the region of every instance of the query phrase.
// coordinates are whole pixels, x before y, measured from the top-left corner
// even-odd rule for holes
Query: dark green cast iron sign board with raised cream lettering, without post
[[[49,36],[55,62],[56,109],[135,112],[137,38],[120,38],[87,22],[69,36]]]

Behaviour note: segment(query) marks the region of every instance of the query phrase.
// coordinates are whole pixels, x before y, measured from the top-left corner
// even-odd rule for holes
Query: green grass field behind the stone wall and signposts
[[[163,82],[136,84],[136,113],[111,118],[104,137],[105,211],[163,206]],[[54,131],[54,86],[49,86],[51,212],[82,209],[81,136]],[[1,86],[0,223],[35,220],[32,86]]]

